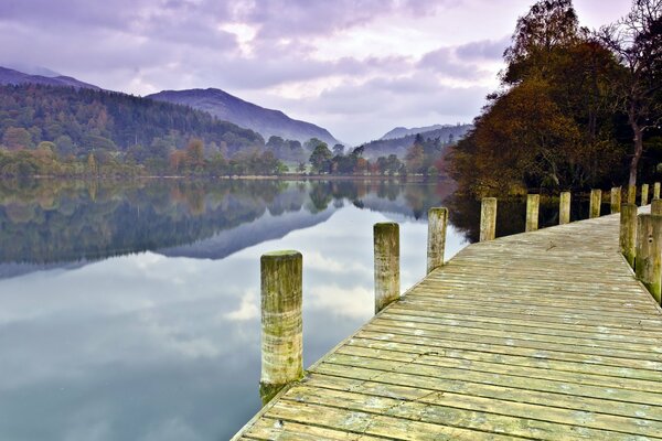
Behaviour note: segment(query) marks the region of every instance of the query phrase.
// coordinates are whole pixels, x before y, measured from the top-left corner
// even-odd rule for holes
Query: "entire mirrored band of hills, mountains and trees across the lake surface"
[[[223,258],[325,222],[345,201],[425,218],[445,186],[374,181],[0,183],[0,278],[152,250]]]

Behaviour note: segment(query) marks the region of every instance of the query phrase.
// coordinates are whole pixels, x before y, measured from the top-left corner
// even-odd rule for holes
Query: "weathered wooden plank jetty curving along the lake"
[[[234,439],[662,440],[662,309],[619,219],[468,246]]]

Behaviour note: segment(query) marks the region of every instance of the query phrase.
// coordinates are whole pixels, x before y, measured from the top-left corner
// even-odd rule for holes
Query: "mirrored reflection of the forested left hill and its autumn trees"
[[[4,181],[0,261],[72,261],[193,243],[256,219],[288,189],[276,181]]]

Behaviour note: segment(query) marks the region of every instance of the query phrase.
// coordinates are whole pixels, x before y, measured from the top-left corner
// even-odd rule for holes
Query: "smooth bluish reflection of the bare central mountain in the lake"
[[[160,249],[168,257],[192,257],[196,259],[223,259],[233,252],[263,241],[279,239],[288,233],[327,222],[333,208],[311,214],[305,211],[288,212],[279,216],[265,213],[261,217],[235,228],[216,233],[214,236],[190,245]]]

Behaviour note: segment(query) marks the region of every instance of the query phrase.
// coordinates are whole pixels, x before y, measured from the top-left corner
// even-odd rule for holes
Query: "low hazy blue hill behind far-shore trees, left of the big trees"
[[[431,126],[437,127],[437,126]],[[455,143],[458,140],[462,139],[469,130],[473,128],[472,125],[459,125],[459,126],[438,126],[439,128],[418,132],[418,129],[405,129],[405,128],[396,128],[391,130],[384,137],[387,137],[392,132],[397,132],[397,130],[402,129],[405,131],[414,130],[414,133],[405,135],[399,138],[387,138],[387,139],[378,139],[375,141],[371,141],[369,143],[363,144],[364,151],[363,155],[367,159],[376,159],[378,157],[387,157],[389,154],[396,154],[398,158],[404,158],[407,149],[414,144],[414,140],[416,139],[416,135],[420,135],[424,139],[439,139],[441,144],[450,144]],[[402,131],[401,130],[401,131]]]

